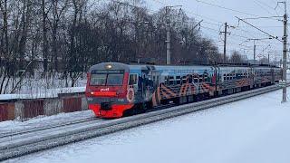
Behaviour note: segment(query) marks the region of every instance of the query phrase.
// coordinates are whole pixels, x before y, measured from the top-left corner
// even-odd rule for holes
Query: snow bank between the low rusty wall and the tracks
[[[52,126],[73,120],[84,120],[92,117],[94,117],[92,110],[82,110],[70,113],[60,113],[53,116],[38,116],[24,122],[18,120],[8,120],[0,122],[0,134],[15,130]]]

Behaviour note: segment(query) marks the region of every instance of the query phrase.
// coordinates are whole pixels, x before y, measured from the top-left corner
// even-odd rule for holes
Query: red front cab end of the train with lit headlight
[[[104,62],[92,66],[85,91],[89,109],[97,117],[122,117],[124,110],[134,105],[131,101],[134,92],[128,83],[136,83],[135,78],[135,75],[130,75],[127,64]]]

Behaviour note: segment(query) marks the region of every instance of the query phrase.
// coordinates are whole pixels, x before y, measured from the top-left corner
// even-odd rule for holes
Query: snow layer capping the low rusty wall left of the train
[[[44,92],[31,93],[31,94],[0,94],[0,101],[18,100],[18,99],[39,99],[39,98],[55,98],[59,94],[63,93],[82,93],[85,91],[85,87],[71,87],[50,89]]]

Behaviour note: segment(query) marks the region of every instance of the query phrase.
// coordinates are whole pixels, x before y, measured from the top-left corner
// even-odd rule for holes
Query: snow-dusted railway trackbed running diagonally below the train
[[[289,86],[289,84],[288,84]],[[110,134],[123,129],[131,129],[140,125],[149,124],[159,120],[165,120],[198,110],[206,110],[215,106],[227,104],[233,101],[244,100],[270,91],[276,91],[279,87],[269,86],[252,91],[244,91],[208,101],[199,101],[167,109],[150,111],[118,120],[80,120],[63,125],[55,125],[43,129],[31,129],[18,133],[10,133],[0,136],[0,160],[16,158],[41,151],[52,149],[83,139],[91,139]]]

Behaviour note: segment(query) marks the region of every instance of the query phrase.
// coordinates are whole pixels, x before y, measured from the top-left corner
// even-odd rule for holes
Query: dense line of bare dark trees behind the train
[[[38,72],[61,74],[73,86],[99,62],[165,64],[167,24],[172,64],[222,62],[182,10],[151,13],[142,0],[0,0],[0,94]]]

